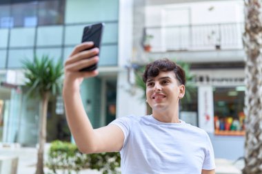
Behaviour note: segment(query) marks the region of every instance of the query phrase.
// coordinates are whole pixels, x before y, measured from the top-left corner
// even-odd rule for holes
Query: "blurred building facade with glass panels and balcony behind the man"
[[[0,3],[0,142],[37,143],[39,101],[23,93],[21,60],[66,60],[83,27],[105,23],[99,76],[84,80],[83,105],[93,127],[146,113],[134,67],[157,58],[190,63],[196,92],[181,119],[208,131],[216,157],[243,156],[243,2],[57,0]],[[148,47],[150,46],[150,47]],[[234,124],[233,124],[234,122]],[[68,140],[63,99],[48,106],[48,140]]]

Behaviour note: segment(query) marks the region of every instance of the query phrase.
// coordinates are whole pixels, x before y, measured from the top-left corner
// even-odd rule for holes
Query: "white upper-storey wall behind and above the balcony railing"
[[[223,50],[242,49],[243,21],[240,0],[145,7],[146,32],[154,36],[152,52],[215,50],[215,45]]]

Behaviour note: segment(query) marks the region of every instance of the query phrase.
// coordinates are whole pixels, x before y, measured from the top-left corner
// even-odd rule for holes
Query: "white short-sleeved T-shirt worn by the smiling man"
[[[116,124],[125,135],[122,174],[201,174],[215,168],[208,134],[186,124],[159,122],[153,116],[126,116]]]

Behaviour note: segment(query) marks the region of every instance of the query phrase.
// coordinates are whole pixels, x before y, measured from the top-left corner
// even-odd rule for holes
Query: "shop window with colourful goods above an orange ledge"
[[[214,89],[214,128],[216,135],[244,135],[245,87]]]

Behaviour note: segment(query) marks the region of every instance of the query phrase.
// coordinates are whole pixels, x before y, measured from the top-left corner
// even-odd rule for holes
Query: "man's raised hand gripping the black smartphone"
[[[97,76],[97,70],[92,72],[79,72],[80,69],[93,65],[99,61],[99,56],[96,56],[99,53],[99,49],[97,47],[87,50],[93,45],[94,43],[92,42],[86,42],[74,47],[74,50],[65,63],[65,80],[63,87],[79,89],[83,78]]]

